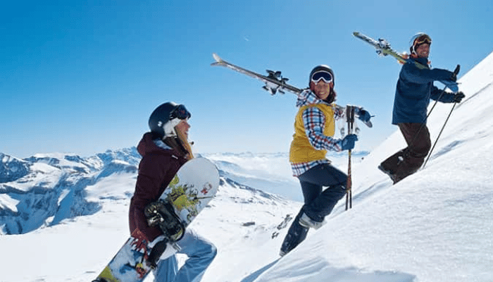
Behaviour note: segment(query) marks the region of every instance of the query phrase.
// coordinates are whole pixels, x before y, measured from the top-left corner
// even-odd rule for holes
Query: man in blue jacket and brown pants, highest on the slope
[[[431,147],[430,133],[426,126],[430,99],[444,103],[458,103],[464,94],[443,92],[433,85],[435,80],[455,82],[456,75],[447,70],[430,68],[428,55],[430,36],[418,33],[411,39],[411,62],[405,63],[399,73],[394,98],[392,124],[399,126],[408,147],[401,149],[378,166],[395,183],[420,168]],[[425,66],[418,68],[414,61]]]

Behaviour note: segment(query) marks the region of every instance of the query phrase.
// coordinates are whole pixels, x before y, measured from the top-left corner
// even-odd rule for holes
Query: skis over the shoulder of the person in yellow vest
[[[280,71],[266,70],[268,75],[261,75],[260,73],[255,73],[254,71],[249,71],[245,68],[236,66],[232,63],[228,63],[227,61],[221,59],[220,56],[218,56],[218,54],[216,53],[212,54],[212,56],[214,60],[216,60],[216,62],[211,63],[211,66],[223,66],[225,68],[230,68],[233,71],[237,71],[238,73],[243,73],[244,75],[248,75],[251,78],[256,78],[258,80],[261,80],[262,82],[266,83],[266,85],[263,85],[262,87],[263,90],[266,90],[271,95],[275,95],[277,92],[280,92],[281,94],[285,94],[285,91],[299,95],[301,92],[305,90],[287,84],[289,78],[283,78]],[[337,104],[334,105],[337,111],[345,111],[344,106],[339,106]],[[365,123],[369,128],[373,126],[373,124],[370,121],[363,123]]]

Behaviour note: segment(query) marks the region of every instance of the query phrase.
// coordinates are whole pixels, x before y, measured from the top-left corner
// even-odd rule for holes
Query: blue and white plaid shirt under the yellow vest
[[[301,92],[297,100],[298,107],[308,104],[323,103],[326,104],[326,102],[318,99],[310,90],[304,90],[304,92]],[[344,114],[344,110],[335,106],[332,106],[332,109],[334,109],[334,118],[336,119],[341,118]],[[303,112],[302,118],[306,136],[308,137],[308,141],[313,148],[318,150],[326,149],[336,152],[342,151],[340,144],[341,140],[334,139],[323,134],[323,129],[325,128],[325,115],[320,109],[316,106],[308,107]],[[291,168],[293,171],[293,176],[300,176],[304,172],[308,171],[308,169],[313,168],[313,166],[318,166],[319,164],[330,164],[330,161],[328,159],[318,159],[316,161],[308,161],[306,163],[292,163]]]

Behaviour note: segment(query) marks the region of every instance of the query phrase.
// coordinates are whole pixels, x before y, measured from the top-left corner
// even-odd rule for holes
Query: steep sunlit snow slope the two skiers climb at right
[[[351,281],[345,269],[403,275],[391,281],[493,281],[493,53],[459,82],[467,99],[423,170],[397,185],[377,170],[405,147],[394,133],[354,168],[354,208],[339,202],[326,226],[255,281]],[[432,140],[450,109],[430,116]]]

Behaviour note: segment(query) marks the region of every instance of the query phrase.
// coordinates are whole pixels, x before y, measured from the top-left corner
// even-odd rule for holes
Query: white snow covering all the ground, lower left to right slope
[[[282,223],[301,202],[225,177],[265,184],[268,173],[274,185],[289,183],[289,166],[282,163],[287,155],[204,156],[222,167],[225,183],[193,223],[218,247],[203,281],[493,281],[493,53],[459,82],[466,99],[455,107],[424,169],[392,185],[377,164],[405,145],[399,132],[390,135],[354,164],[353,209],[344,211],[341,200],[323,228],[282,258]],[[431,114],[433,141],[450,109],[438,104]],[[99,212],[0,235],[0,281],[91,281],[127,239],[134,185],[135,171],[110,174],[85,189],[101,205]],[[13,210],[14,204],[4,202]]]

